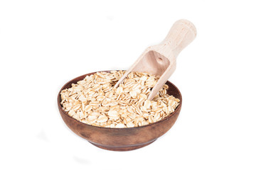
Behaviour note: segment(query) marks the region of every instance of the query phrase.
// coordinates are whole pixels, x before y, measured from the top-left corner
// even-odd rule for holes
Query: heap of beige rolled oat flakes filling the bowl
[[[97,72],[61,91],[61,105],[82,123],[105,128],[132,128],[157,122],[174,112],[179,99],[166,94],[165,84],[152,101],[147,100],[159,77],[142,72]]]

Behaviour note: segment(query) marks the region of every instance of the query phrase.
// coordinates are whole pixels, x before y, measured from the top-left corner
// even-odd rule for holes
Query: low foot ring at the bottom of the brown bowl
[[[92,145],[95,145],[96,147],[100,147],[101,149],[106,149],[106,150],[112,150],[112,151],[130,151],[134,149],[139,149],[141,147],[145,147],[146,145],[149,145],[153,143],[156,140],[151,140],[150,142],[138,144],[138,145],[129,145],[129,146],[110,146],[110,145],[100,145],[95,142],[90,142]]]

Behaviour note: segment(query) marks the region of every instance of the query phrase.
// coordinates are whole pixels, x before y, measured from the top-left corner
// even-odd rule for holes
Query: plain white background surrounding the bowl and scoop
[[[196,39],[171,77],[181,114],[131,152],[99,149],[61,119],[82,74],[128,69],[186,18]],[[0,1],[0,169],[256,169],[253,1]]]

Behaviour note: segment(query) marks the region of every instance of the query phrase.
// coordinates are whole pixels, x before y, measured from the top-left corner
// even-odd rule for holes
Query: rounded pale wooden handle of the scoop
[[[181,19],[174,23],[169,30],[168,35],[161,42],[160,45],[164,45],[164,52],[166,57],[177,57],[190,42],[196,38],[196,27],[191,21]],[[171,60],[169,58],[169,60]]]

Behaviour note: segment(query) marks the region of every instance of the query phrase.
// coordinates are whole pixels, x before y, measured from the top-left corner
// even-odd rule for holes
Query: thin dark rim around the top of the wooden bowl
[[[119,70],[105,70],[105,71],[97,71],[97,72],[111,72],[111,71],[119,71]],[[122,71],[126,71],[126,70],[122,70]],[[91,74],[95,74],[97,72],[90,72],[90,73],[87,73],[87,74],[83,74],[79,77],[86,77],[86,75],[91,75]],[[78,77],[75,77],[74,79],[71,79],[70,81],[74,81],[75,79],[78,79]],[[68,115],[68,113],[66,111],[63,110],[60,102],[61,102],[61,98],[60,98],[60,92],[63,91],[64,87],[70,83],[70,81],[68,81],[67,83],[65,83],[60,91],[58,92],[58,97],[57,97],[57,103],[58,103],[58,108],[59,108],[59,112],[62,112],[64,113],[65,115],[67,115],[69,118],[72,118],[73,120],[75,120],[77,123],[80,123],[81,125],[88,125],[88,126],[91,126],[93,128],[100,128],[100,129],[109,129],[109,130],[125,130],[125,129],[129,129],[129,130],[132,130],[132,129],[138,129],[138,128],[145,128],[145,127],[149,127],[151,125],[156,125],[157,123],[161,123],[169,118],[171,118],[171,116],[175,115],[178,111],[181,110],[181,105],[182,105],[182,96],[181,96],[181,91],[178,90],[178,88],[173,84],[171,83],[171,81],[166,81],[166,82],[169,82],[172,86],[174,86],[174,88],[178,91],[178,94],[181,96],[180,98],[178,98],[180,100],[180,103],[178,104],[177,108],[175,109],[175,111],[173,113],[171,113],[170,115],[166,116],[165,118],[155,122],[155,123],[149,123],[148,125],[142,125],[142,126],[137,126],[137,127],[132,127],[132,128],[105,128],[105,127],[100,127],[100,126],[95,126],[95,125],[89,125],[87,123],[82,123],[80,122],[79,120],[76,120],[75,118],[71,117],[70,115]]]

